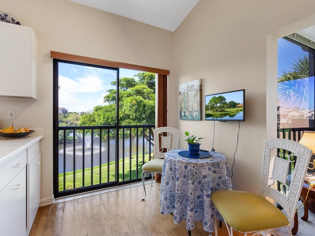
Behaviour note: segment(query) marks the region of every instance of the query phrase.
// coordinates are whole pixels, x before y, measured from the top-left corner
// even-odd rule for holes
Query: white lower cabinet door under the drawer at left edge
[[[0,235],[26,235],[26,167],[0,192]]]

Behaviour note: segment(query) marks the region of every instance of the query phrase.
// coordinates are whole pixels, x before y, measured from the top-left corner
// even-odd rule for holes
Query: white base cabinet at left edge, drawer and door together
[[[21,156],[23,160],[21,162]],[[0,191],[0,234],[26,235],[26,150],[0,167],[0,178],[4,173],[17,173],[5,183]],[[14,169],[14,171],[13,171]],[[2,173],[3,171],[3,173]],[[2,180],[1,180],[2,182]]]

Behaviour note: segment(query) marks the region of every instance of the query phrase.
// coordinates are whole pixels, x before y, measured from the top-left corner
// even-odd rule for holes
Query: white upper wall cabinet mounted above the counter
[[[32,28],[0,22],[0,96],[36,98],[36,71]]]

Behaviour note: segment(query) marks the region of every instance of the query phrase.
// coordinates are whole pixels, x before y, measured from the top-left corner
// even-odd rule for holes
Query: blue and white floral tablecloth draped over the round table
[[[174,213],[174,224],[186,219],[187,230],[192,230],[195,222],[200,221],[206,232],[213,232],[211,192],[232,189],[226,156],[211,152],[211,157],[201,159],[178,154],[185,150],[165,154],[159,198],[161,213]]]

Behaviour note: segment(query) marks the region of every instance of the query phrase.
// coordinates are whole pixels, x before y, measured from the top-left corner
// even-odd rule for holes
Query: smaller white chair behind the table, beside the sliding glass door
[[[154,139],[154,159],[146,162],[142,166],[142,185],[144,189],[144,200],[147,196],[144,184],[145,177],[152,174],[151,186],[154,173],[162,173],[165,152],[176,149],[179,141],[179,130],[172,127],[159,127],[153,130]]]

